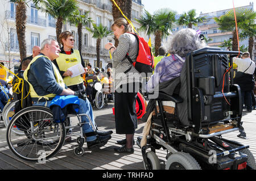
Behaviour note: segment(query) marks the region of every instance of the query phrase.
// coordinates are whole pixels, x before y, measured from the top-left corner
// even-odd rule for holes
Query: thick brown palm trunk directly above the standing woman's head
[[[115,6],[114,2],[112,2],[112,14],[113,14],[113,19],[114,21],[117,20],[118,18],[125,18],[123,17],[122,13],[119,11],[118,7]],[[132,0],[118,0],[115,1],[117,3],[117,5],[119,6],[119,8],[121,9],[121,11],[123,12],[123,14],[131,20],[131,4],[132,4]],[[118,39],[114,37],[115,40],[115,47],[118,46]]]

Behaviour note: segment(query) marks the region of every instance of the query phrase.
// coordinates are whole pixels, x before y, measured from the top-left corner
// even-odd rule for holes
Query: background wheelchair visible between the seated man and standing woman
[[[98,110],[100,110],[105,104],[104,94],[101,91],[101,88],[102,86],[100,82],[92,81],[87,83],[85,89],[90,104],[92,107],[97,107]]]

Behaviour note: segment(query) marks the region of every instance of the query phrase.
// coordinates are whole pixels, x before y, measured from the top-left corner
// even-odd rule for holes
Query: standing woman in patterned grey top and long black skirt
[[[126,54],[129,54],[133,62],[136,60],[138,41],[134,35],[128,33],[133,32],[133,28],[126,19],[115,20],[111,28],[119,40],[117,48],[112,43],[105,45],[105,49],[113,54],[115,129],[117,134],[126,134],[125,140],[117,141],[124,146],[114,150],[119,153],[133,153],[134,133],[138,127],[135,105],[139,89],[139,72],[131,65]]]

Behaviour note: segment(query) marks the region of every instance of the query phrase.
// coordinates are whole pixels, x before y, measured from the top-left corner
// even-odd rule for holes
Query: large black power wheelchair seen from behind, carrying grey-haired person
[[[232,78],[229,81],[229,66],[237,55],[220,48],[203,48],[186,56],[179,94],[159,90],[142,147],[138,137],[145,169],[160,169],[156,149],[167,150],[166,170],[256,169],[248,145],[222,138],[241,127],[240,87]],[[163,106],[166,103],[174,104],[172,111]]]

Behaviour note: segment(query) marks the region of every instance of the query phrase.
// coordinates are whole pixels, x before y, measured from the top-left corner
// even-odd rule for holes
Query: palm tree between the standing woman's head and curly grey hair
[[[141,30],[150,35],[155,35],[155,56],[158,56],[158,49],[162,43],[162,37],[170,35],[169,31],[174,26],[176,12],[168,8],[159,9],[153,15],[145,11],[137,21],[141,24]]]

